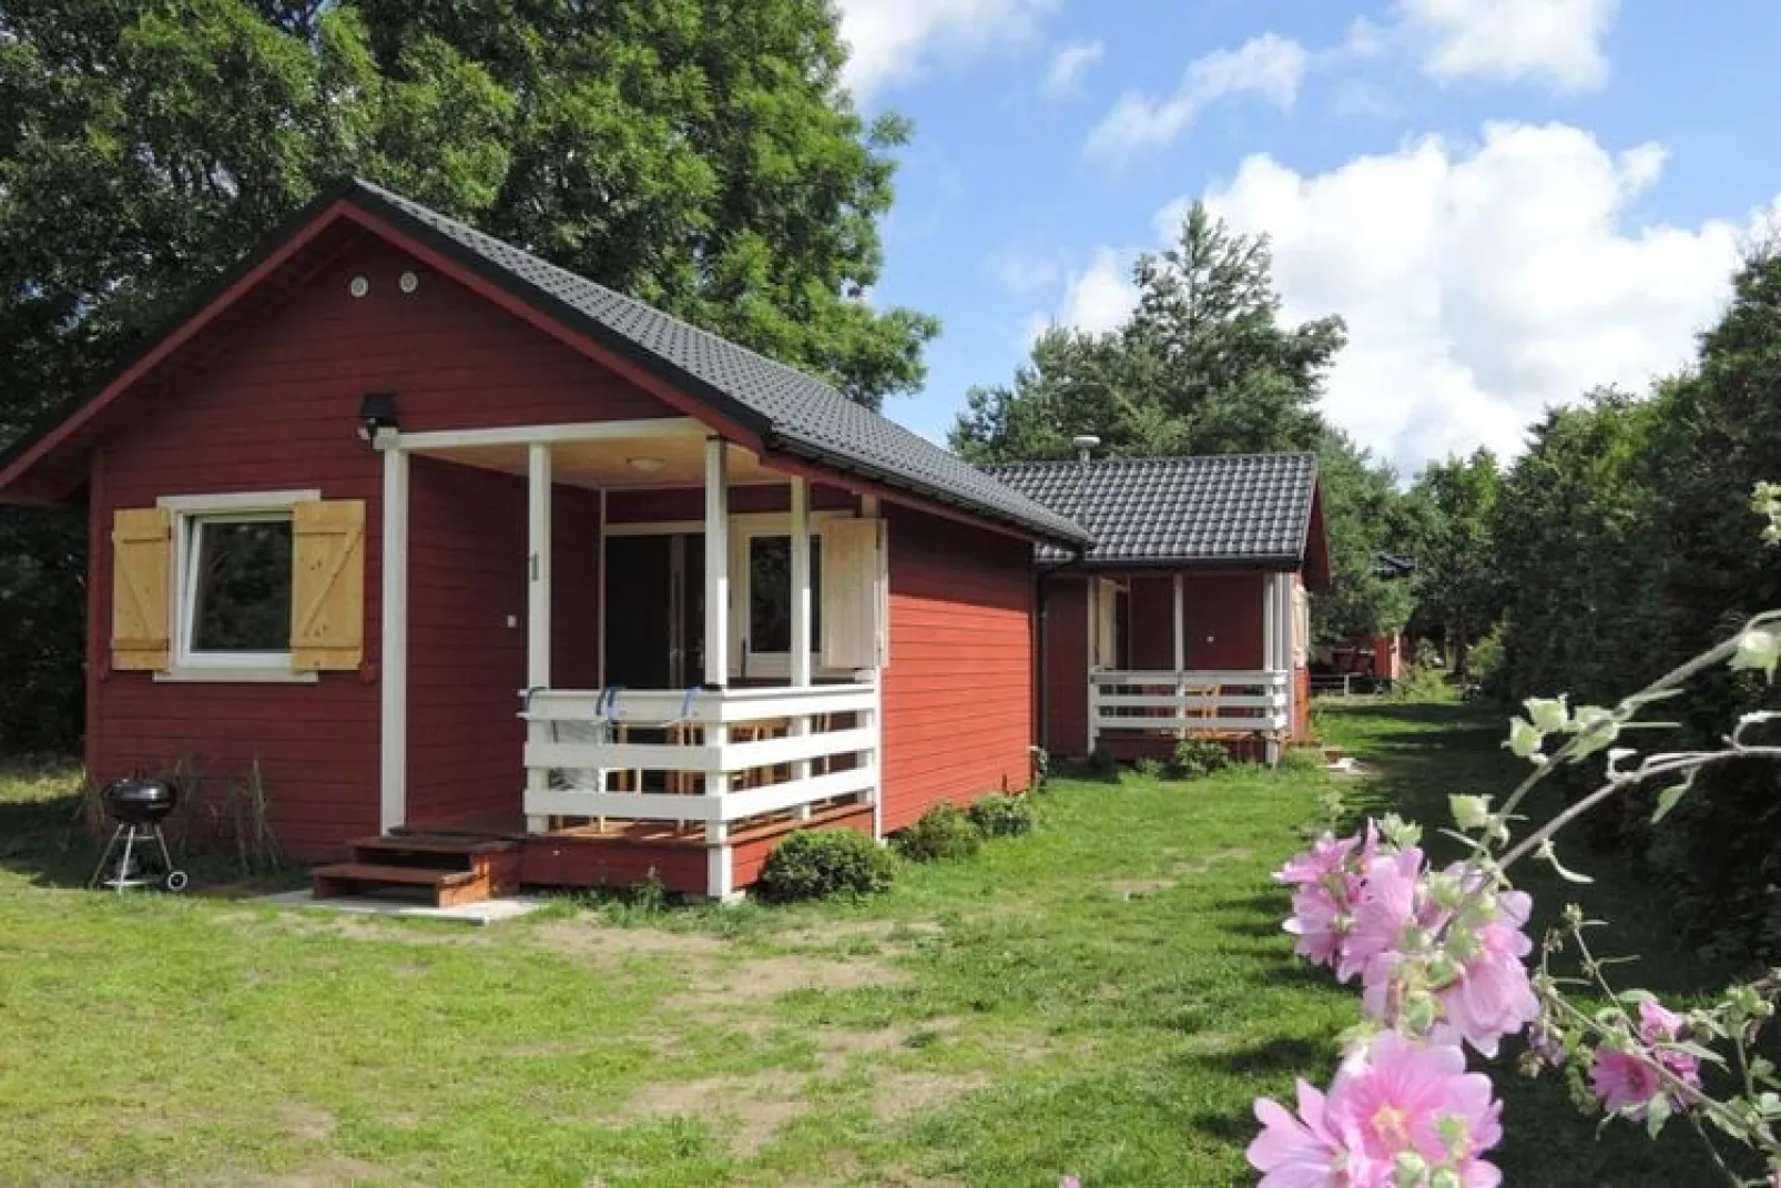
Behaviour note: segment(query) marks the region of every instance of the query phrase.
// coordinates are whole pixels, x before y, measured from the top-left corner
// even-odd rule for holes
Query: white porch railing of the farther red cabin
[[[1088,673],[1090,743],[1102,730],[1284,734],[1291,680],[1284,671]]]

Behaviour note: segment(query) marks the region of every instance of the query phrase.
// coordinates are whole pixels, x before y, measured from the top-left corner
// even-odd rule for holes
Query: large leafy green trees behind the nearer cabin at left
[[[866,301],[908,126],[842,62],[825,0],[9,0],[0,443],[346,175],[878,406],[937,326]],[[52,581],[9,561],[32,533],[0,520],[0,581]],[[57,581],[0,600],[78,647]]]

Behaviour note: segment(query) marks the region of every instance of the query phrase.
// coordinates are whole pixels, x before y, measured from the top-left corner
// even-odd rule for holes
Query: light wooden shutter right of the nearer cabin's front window
[[[290,540],[290,668],[358,668],[365,659],[365,500],[292,506]]]

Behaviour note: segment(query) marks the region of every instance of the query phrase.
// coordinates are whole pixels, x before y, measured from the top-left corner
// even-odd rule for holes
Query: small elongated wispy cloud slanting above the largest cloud
[[[1213,103],[1254,96],[1288,110],[1298,98],[1311,55],[1279,34],[1263,34],[1236,50],[1218,50],[1188,66],[1174,94],[1127,91],[1088,134],[1090,157],[1124,160],[1177,141]]]

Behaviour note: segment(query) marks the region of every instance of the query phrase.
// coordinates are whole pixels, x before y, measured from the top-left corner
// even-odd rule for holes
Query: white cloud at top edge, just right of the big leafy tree
[[[1031,41],[1058,0],[839,0],[841,71],[853,98],[915,78],[939,61],[964,61]]]

